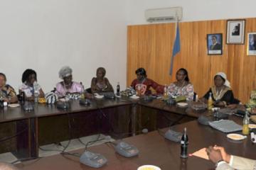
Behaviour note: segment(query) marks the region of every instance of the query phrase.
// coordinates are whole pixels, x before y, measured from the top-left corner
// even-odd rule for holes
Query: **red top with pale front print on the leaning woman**
[[[140,91],[140,94],[151,94],[150,88],[152,87],[156,93],[164,94],[164,86],[157,84],[155,81],[151,79],[144,79],[144,81],[140,82],[138,79],[134,79],[131,84],[132,88]]]

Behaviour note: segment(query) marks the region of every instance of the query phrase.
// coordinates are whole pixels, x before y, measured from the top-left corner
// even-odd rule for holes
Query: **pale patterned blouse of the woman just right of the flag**
[[[168,86],[168,95],[169,96],[186,96],[187,101],[193,101],[193,85],[187,84],[186,86],[176,86],[172,83]]]

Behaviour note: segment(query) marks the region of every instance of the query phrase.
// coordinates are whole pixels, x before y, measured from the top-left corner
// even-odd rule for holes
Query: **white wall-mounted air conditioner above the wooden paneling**
[[[182,7],[154,8],[145,11],[146,21],[152,22],[171,22],[181,21]]]

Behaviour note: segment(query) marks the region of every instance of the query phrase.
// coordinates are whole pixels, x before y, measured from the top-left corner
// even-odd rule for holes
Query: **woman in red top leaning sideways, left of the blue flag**
[[[136,91],[139,91],[139,94],[151,94],[151,87],[156,91],[156,93],[164,94],[164,86],[161,86],[155,81],[146,78],[146,70],[144,68],[137,69],[135,73],[137,74],[137,79],[134,79],[134,81],[132,81],[131,86]]]

